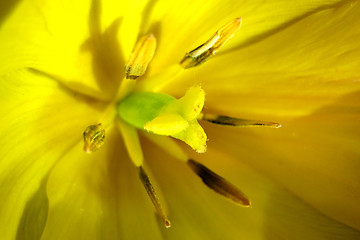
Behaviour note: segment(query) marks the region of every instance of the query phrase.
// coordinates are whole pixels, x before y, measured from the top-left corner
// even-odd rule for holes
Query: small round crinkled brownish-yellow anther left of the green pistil
[[[84,133],[84,151],[86,153],[92,153],[97,151],[104,143],[105,129],[101,126],[101,123],[88,126]]]

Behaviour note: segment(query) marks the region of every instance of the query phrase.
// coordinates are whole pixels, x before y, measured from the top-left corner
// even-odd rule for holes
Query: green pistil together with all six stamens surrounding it
[[[187,157],[170,136],[184,141],[198,153],[206,152],[207,136],[198,123],[205,120],[214,124],[236,127],[266,126],[280,127],[277,123],[237,119],[228,116],[202,113],[205,92],[200,86],[192,86],[185,95],[176,99],[173,96],[149,91],[149,86],[167,84],[171,77],[188,68],[196,67],[213,56],[239,30],[241,18],[234,19],[220,28],[209,40],[185,54],[176,66],[171,66],[159,75],[146,79],[136,86],[136,79],[146,72],[155,49],[156,39],[152,34],[142,37],[136,44],[126,66],[126,78],[121,83],[116,100],[111,108],[116,108],[116,122],[123,135],[130,159],[139,170],[139,178],[148,193],[156,212],[166,227],[170,227],[167,214],[161,207],[156,191],[143,166],[143,154],[138,131],[162,147],[170,155],[186,162],[210,189],[244,207],[250,206],[250,200],[230,184],[204,165]],[[157,90],[157,89],[155,89]],[[110,111],[112,112],[112,111]],[[113,119],[113,118],[111,118]],[[104,123],[106,128],[107,123]],[[91,125],[84,132],[84,150],[87,153],[98,150],[104,142],[105,130],[101,124]]]

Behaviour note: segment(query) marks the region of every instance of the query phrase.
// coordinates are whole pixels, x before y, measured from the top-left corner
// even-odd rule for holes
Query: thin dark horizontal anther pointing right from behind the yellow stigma
[[[217,114],[208,114],[208,113],[206,114],[203,113],[202,116],[200,116],[200,119],[214,124],[234,126],[234,127],[271,127],[271,128],[281,127],[280,123],[233,118],[233,117],[217,115]]]

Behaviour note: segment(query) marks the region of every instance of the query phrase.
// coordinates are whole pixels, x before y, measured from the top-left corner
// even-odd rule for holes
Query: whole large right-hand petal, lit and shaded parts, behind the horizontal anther
[[[214,136],[208,132],[214,144],[277,179],[325,214],[357,229],[359,12],[359,3],[321,11],[194,70],[197,76],[206,76],[203,86],[208,109],[283,126],[276,131],[222,128],[232,137],[224,138],[225,132]],[[230,60],[238,64],[231,65]],[[215,67],[219,71],[213,71]],[[189,73],[188,84],[194,81],[194,72],[192,76]],[[343,96],[347,93],[349,96]],[[323,108],[331,110],[325,114]],[[266,118],[259,118],[261,115]],[[297,116],[308,116],[307,124],[304,119],[287,118]],[[266,139],[259,143],[263,134]]]

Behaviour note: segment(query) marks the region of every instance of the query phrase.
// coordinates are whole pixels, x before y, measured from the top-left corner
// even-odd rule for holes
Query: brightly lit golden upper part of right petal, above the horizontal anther
[[[349,3],[315,13],[257,44],[183,72],[179,84],[167,91],[180,95],[181,86],[201,83],[207,108],[250,119],[254,114],[311,113],[360,89],[359,12],[359,3]]]

